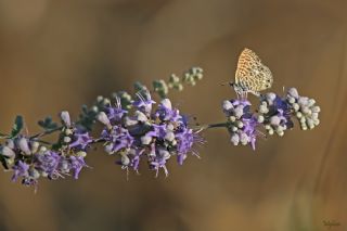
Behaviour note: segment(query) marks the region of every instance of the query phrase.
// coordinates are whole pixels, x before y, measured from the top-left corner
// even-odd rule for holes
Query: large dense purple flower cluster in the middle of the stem
[[[139,170],[142,158],[151,169],[162,168],[168,175],[166,164],[176,156],[182,165],[188,153],[196,156],[194,144],[203,139],[188,125],[188,118],[174,108],[169,99],[163,99],[156,110],[149,91],[138,93],[132,112],[121,107],[120,99],[115,105],[105,107],[98,120],[105,127],[101,138],[105,141],[105,152],[118,154],[117,162],[123,168]]]

